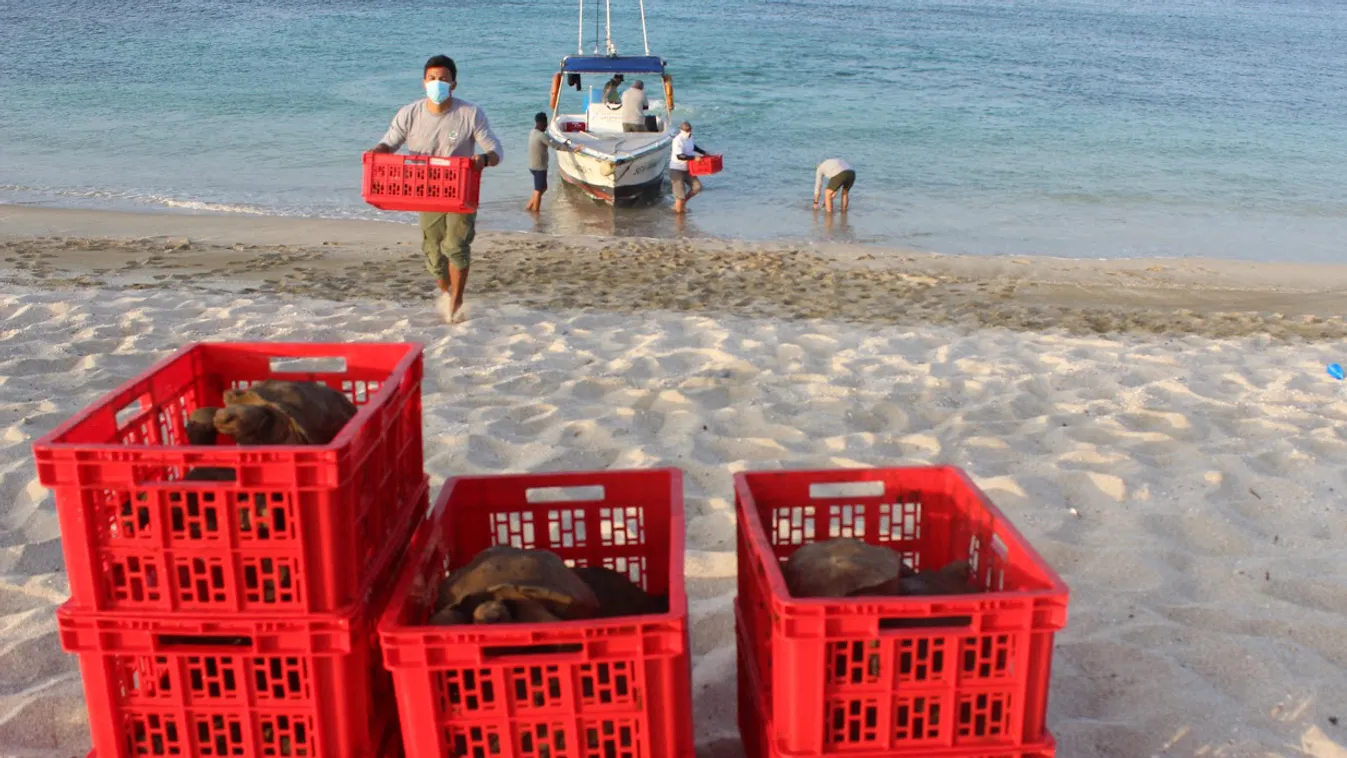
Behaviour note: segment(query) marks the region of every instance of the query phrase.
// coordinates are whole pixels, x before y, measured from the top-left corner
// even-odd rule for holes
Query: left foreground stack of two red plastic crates
[[[94,754],[381,754],[396,708],[373,621],[428,505],[418,345],[193,345],[34,446]],[[325,446],[186,444],[193,411],[267,378],[358,412]]]

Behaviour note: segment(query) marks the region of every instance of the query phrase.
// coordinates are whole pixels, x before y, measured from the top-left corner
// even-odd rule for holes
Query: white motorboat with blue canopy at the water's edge
[[[645,55],[617,54],[612,39],[609,1],[605,0],[609,12],[606,44],[599,53],[595,34],[593,53],[585,54],[585,0],[581,0],[579,53],[563,58],[560,70],[552,75],[552,118],[547,133],[558,148],[556,163],[562,179],[601,202],[634,205],[653,199],[664,190],[669,144],[676,133],[672,125],[674,79],[665,70],[664,61],[651,55],[649,38],[645,35],[645,1],[641,0]],[[595,19],[595,32],[597,27]],[[618,106],[605,102],[602,88],[614,74],[622,74],[628,86],[643,77],[651,79],[647,82],[647,93],[653,89],[656,78],[664,85],[663,101],[651,100],[647,94],[649,110],[645,116],[645,132],[624,132]],[[577,108],[571,113],[559,110],[563,82],[566,88],[582,93],[582,109]]]

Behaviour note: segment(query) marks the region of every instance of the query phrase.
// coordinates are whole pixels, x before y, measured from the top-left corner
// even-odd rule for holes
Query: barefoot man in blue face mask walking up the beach
[[[458,86],[454,59],[435,55],[426,62],[423,74],[426,98],[403,106],[393,116],[374,152],[397,152],[405,144],[412,155],[471,158],[478,168],[498,164],[505,151],[486,114],[471,102],[453,96]],[[477,147],[482,152],[475,152]],[[477,214],[423,213],[420,228],[426,268],[439,284],[436,308],[453,323],[463,312]]]

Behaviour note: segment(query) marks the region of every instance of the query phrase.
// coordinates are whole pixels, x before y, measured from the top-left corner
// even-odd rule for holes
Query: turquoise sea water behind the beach
[[[679,114],[726,155],[686,225],[668,202],[597,207],[555,171],[543,217],[520,210],[532,114],[577,48],[570,0],[0,0],[0,202],[399,218],[362,203],[360,152],[447,53],[509,151],[486,229],[1347,253],[1340,0],[648,0],[647,16]],[[640,53],[636,0],[613,0],[613,23]],[[810,209],[830,156],[858,170],[832,225]]]

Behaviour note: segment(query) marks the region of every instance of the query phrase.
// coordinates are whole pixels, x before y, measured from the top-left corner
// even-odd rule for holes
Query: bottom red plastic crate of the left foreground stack
[[[397,718],[366,614],[57,618],[97,755],[365,758]]]

